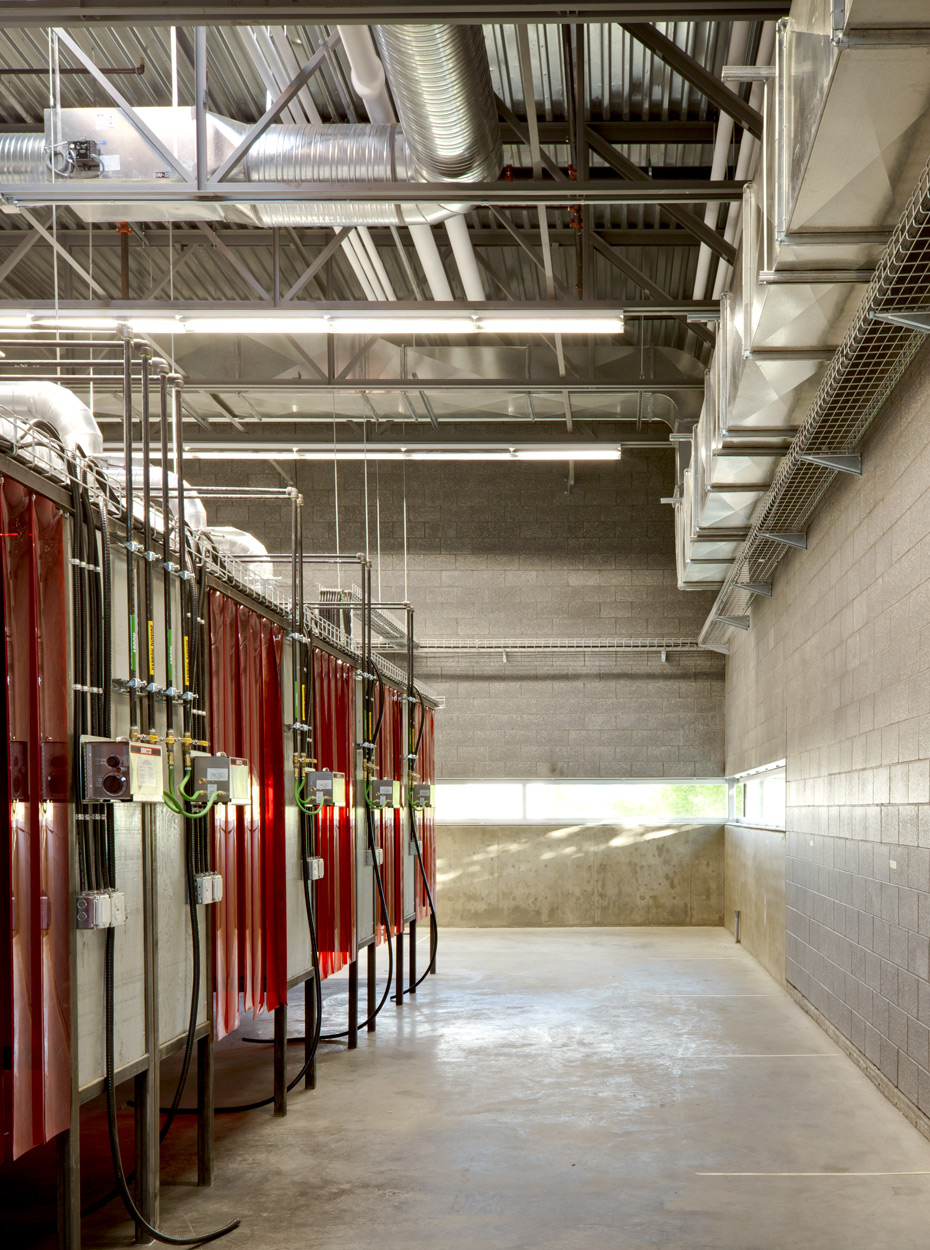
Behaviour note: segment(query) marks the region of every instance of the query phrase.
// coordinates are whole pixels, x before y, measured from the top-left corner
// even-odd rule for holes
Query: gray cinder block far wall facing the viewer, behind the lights
[[[335,550],[332,466],[302,461],[285,468],[306,500],[306,549]],[[194,484],[282,484],[272,468],[248,461],[192,462],[189,476]],[[659,502],[674,488],[669,451],[629,451],[618,464],[579,462],[570,494],[565,465],[526,461],[371,461],[368,484],[369,549],[376,561],[380,519],[385,600],[404,598],[406,496],[408,598],[420,638],[695,638],[712,602],[710,595],[682,594],[676,586],[672,510]],[[286,506],[228,501],[208,508],[211,521],[250,530],[270,551],[289,550]],[[358,462],[339,465],[339,544],[342,551],[365,549],[364,468]],[[334,585],[335,571],[324,570],[320,580]],[[495,652],[441,664],[420,656],[418,671],[446,700],[438,730],[440,778],[721,775],[724,661],[715,654],[670,655],[668,662],[658,655],[510,654],[505,662]],[[495,829],[491,818],[488,839],[498,836]],[[489,924],[519,924],[516,911],[501,910],[496,901],[485,909],[459,901],[454,882],[472,854],[474,836],[474,826],[440,828],[440,898],[461,922],[482,914]],[[536,869],[545,836],[546,830],[524,826],[525,859],[509,854],[509,871],[544,881]],[[675,845],[676,864],[684,855],[690,881],[690,848],[698,842],[686,836]],[[710,846],[720,871],[704,871],[709,851],[701,841],[695,872],[701,882],[716,882],[716,895],[706,906],[675,905],[676,915],[700,915],[696,922],[705,924],[719,922],[722,911],[722,840],[712,839]],[[668,890],[661,858],[646,851],[640,858],[655,865],[651,884],[640,875],[644,896],[655,901],[651,910],[631,904],[625,914],[662,922],[671,912],[660,905]],[[629,861],[632,872],[634,859],[616,852],[611,862]],[[571,924],[598,922],[596,914],[616,918],[616,909],[599,910],[595,878],[565,911],[562,884],[555,871],[549,874],[541,914],[571,915],[552,921]],[[676,899],[690,899],[689,890],[676,886]]]

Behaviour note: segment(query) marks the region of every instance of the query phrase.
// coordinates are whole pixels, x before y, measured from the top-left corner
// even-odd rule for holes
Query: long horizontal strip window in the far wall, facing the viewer
[[[722,821],[726,781],[440,781],[436,820],[445,825]]]

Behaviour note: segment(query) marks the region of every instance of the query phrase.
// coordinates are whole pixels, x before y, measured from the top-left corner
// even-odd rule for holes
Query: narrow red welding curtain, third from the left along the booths
[[[324,808],[318,849],[325,861],[316,882],[320,970],[338,972],[355,959],[355,669],[325,651],[314,652],[316,766],[345,772],[345,808]]]

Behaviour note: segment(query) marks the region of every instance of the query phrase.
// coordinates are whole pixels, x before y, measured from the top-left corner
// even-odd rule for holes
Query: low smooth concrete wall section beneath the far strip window
[[[440,922],[719,925],[719,824],[440,825]]]

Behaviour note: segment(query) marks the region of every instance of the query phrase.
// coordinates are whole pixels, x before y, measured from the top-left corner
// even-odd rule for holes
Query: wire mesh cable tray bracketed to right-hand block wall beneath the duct
[[[836,350],[810,410],[761,500],[742,546],[701,630],[700,642],[726,648],[726,619],[748,628],[754,595],[741,586],[771,581],[792,544],[771,535],[805,535],[836,471],[805,456],[856,450],[891,389],[924,341],[908,326],[875,319],[879,312],[930,305],[930,164],[920,176],[859,311]],[[799,540],[800,541],[800,540]]]

